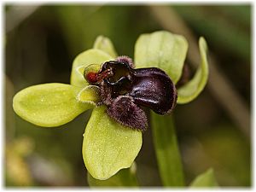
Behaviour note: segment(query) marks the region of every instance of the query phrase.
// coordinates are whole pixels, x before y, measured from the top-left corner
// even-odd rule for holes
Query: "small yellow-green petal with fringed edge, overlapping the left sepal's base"
[[[98,86],[88,85],[83,90],[80,90],[77,100],[79,102],[89,103],[96,106],[96,104],[101,100],[99,92],[100,88]]]

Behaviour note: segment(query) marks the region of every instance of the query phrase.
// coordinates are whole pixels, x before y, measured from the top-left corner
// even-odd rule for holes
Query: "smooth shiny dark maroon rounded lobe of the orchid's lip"
[[[166,114],[172,111],[177,101],[177,92],[172,80],[159,68],[138,68],[134,70],[131,96],[142,106],[155,113]]]

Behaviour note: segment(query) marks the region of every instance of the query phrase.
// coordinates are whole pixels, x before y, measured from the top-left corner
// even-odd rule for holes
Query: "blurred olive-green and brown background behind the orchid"
[[[232,98],[218,95],[229,96],[229,90],[214,92],[209,84],[194,102],[177,105],[174,117],[186,183],[213,167],[220,186],[251,186],[250,4],[3,6],[6,186],[88,185],[81,146],[90,112],[67,125],[41,128],[14,113],[12,97],[17,91],[33,84],[68,84],[73,59],[90,49],[98,35],[112,39],[119,55],[133,57],[140,34],[158,30],[183,33],[181,23],[196,41],[200,36],[207,39],[213,64],[218,67],[214,73],[210,71],[213,80],[209,84],[221,87],[214,82],[221,74],[243,108],[232,109]],[[167,13],[161,20],[159,15],[166,14],[161,12],[163,8],[176,17]],[[186,63],[191,66],[189,59]],[[143,148],[136,161],[140,185],[161,186],[150,129],[143,134]]]

